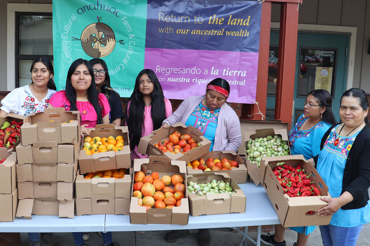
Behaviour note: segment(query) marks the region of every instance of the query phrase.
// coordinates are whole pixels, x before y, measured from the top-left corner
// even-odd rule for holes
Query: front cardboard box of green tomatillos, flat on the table
[[[245,212],[246,196],[226,173],[188,176],[186,192],[191,216]]]

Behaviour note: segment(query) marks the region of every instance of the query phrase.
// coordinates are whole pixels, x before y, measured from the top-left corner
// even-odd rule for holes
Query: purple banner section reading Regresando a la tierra
[[[229,103],[256,98],[258,52],[145,48],[144,67],[157,74],[166,98],[204,95],[218,77],[230,84]]]

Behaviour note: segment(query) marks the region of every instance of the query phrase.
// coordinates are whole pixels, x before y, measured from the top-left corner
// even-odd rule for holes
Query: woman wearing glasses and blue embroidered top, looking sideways
[[[332,97],[326,90],[310,91],[304,104],[304,113],[289,132],[289,146],[292,155],[303,155],[306,160],[320,153],[320,141],[327,129],[336,124],[332,111]],[[315,226],[290,228],[298,232],[296,246],[305,246]],[[285,228],[275,225],[275,235],[261,235],[267,245],[285,246]]]

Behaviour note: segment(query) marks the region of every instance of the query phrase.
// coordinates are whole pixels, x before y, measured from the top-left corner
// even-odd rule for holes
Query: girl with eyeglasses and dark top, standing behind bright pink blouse
[[[120,95],[112,89],[108,67],[104,60],[93,58],[89,60],[94,72],[95,86],[98,93],[107,97],[111,111],[109,113],[109,122],[119,127],[121,119],[124,117]]]

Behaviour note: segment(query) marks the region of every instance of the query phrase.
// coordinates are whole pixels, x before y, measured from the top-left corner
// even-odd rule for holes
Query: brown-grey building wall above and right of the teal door
[[[298,5],[298,4],[297,4]],[[272,4],[271,21],[280,21],[280,5]],[[299,24],[357,27],[353,87],[370,93],[370,0],[303,0]]]

